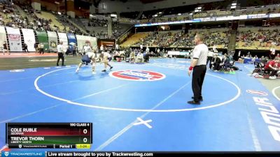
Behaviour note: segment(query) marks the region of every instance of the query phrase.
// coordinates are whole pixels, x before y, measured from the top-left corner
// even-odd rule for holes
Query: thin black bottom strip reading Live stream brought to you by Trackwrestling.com
[[[279,157],[280,152],[143,152],[143,151],[0,151],[1,157],[146,157],[146,156],[260,156]]]

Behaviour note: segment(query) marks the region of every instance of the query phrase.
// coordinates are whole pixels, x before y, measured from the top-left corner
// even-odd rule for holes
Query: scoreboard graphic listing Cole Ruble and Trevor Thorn
[[[8,148],[89,149],[92,123],[7,123]]]

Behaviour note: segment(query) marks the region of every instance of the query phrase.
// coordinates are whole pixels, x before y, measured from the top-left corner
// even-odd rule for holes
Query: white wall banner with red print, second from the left
[[[10,52],[22,52],[22,39],[20,37],[20,29],[6,27],[8,33],[8,41]]]

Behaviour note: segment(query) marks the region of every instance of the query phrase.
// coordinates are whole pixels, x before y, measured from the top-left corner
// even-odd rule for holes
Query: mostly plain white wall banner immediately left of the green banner
[[[29,52],[35,52],[34,44],[36,43],[33,29],[22,29],[23,39],[27,44]]]

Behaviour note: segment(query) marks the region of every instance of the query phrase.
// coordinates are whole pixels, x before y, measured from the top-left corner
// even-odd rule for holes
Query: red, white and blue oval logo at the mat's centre
[[[132,81],[158,81],[165,78],[162,73],[148,70],[118,70],[111,72],[109,75],[121,80]]]

